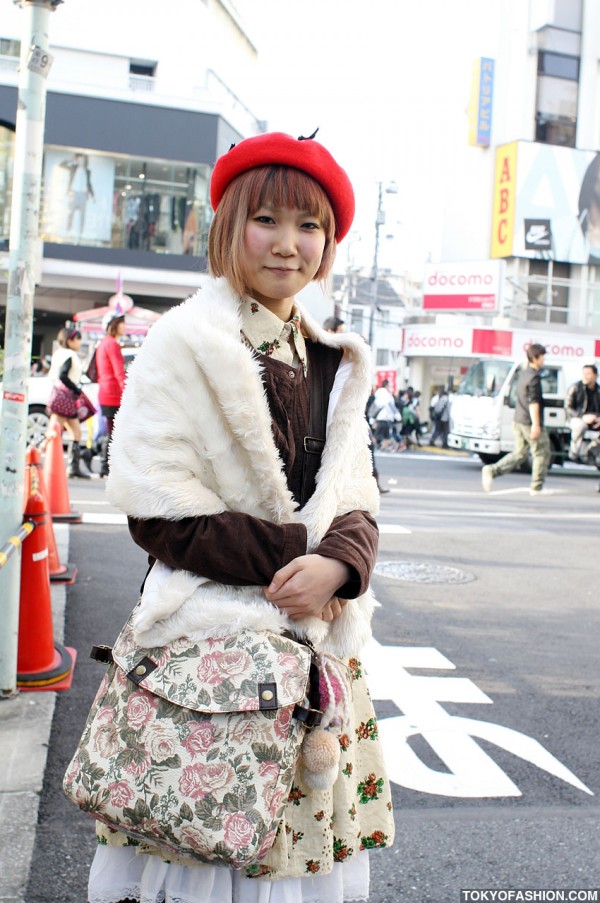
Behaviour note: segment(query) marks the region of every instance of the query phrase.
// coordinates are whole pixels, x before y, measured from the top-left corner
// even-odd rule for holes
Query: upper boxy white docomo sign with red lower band
[[[501,262],[495,260],[427,264],[424,310],[496,310]]]

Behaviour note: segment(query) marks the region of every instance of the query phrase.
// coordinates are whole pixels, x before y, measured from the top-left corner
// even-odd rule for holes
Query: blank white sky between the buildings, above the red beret
[[[294,135],[318,126],[318,140],[354,184],[355,225],[336,270],[372,265],[380,181],[397,188],[383,196],[380,267],[402,273],[439,259],[452,147],[467,142],[472,63],[489,53],[485,35],[499,0],[235,5],[259,51],[248,86],[258,118]]]

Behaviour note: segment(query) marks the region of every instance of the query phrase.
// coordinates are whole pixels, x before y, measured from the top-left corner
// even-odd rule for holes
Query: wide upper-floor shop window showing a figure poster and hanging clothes
[[[42,238],[204,256],[209,175],[204,165],[46,147]]]

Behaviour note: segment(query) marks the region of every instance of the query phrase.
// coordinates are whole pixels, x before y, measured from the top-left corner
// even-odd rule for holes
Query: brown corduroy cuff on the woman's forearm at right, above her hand
[[[337,558],[351,568],[350,580],[337,591],[342,599],[356,599],[366,592],[377,561],[378,542],[377,523],[366,511],[350,511],[332,521],[315,554]]]

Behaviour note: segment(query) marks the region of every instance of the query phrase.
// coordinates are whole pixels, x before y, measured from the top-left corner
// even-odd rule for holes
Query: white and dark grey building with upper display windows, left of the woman
[[[25,15],[6,3],[0,22],[0,269]],[[198,288],[212,166],[264,129],[246,88],[257,50],[229,0],[178,0],[177,15],[158,0],[66,0],[49,30],[34,356],[119,280],[159,312]]]

